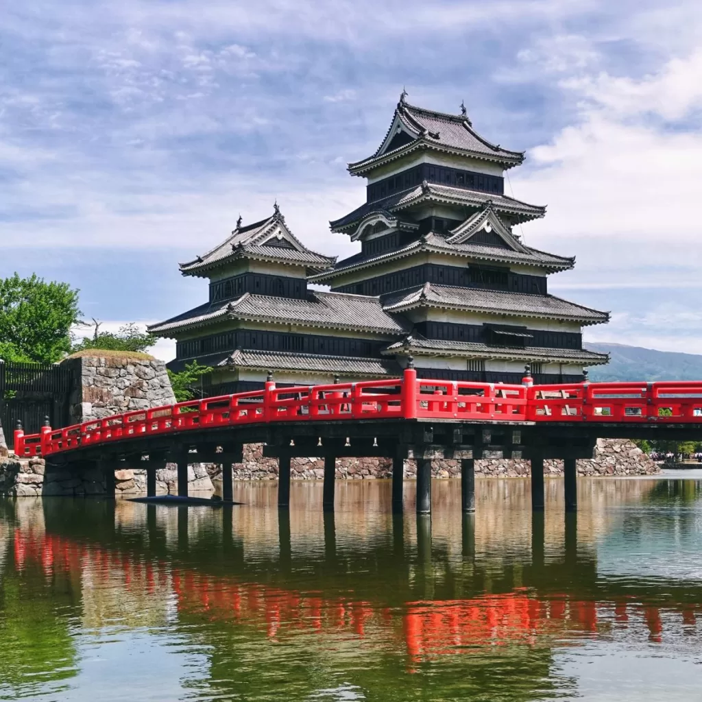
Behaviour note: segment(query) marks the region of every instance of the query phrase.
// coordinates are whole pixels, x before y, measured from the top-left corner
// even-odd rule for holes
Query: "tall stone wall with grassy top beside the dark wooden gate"
[[[81,356],[63,363],[76,379],[69,401],[72,424],[176,402],[162,361]]]

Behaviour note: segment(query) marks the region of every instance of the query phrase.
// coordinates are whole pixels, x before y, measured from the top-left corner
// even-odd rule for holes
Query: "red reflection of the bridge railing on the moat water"
[[[404,645],[410,667],[435,656],[470,654],[486,646],[559,645],[601,630],[633,628],[651,642],[660,642],[664,623],[680,630],[694,627],[696,611],[689,603],[665,607],[630,599],[592,601],[567,596],[538,597],[527,589],[466,600],[406,602],[402,607],[346,597],[286,590],[231,576],[208,576],[161,559],[144,559],[123,550],[72,541],[62,536],[16,529],[15,568],[39,566],[46,576],[64,571],[80,581],[91,569],[93,581],[107,584],[117,571],[126,590],[150,595],[173,592],[181,616],[213,622],[254,625],[272,640],[296,632],[347,633],[363,639]],[[681,618],[682,616],[682,618]]]

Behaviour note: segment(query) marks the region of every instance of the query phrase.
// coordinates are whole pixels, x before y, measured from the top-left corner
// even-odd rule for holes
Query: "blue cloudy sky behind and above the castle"
[[[312,249],[365,199],[345,170],[399,93],[525,150],[520,233],[576,256],[585,340],[702,352],[698,0],[2,2],[0,276],[80,289],[101,329],[207,298],[178,263],[277,199]],[[173,355],[160,342],[156,354]]]

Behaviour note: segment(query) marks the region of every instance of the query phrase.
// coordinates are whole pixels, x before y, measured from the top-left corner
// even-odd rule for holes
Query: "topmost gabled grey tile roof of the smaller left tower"
[[[302,265],[312,271],[329,268],[336,261],[334,257],[323,256],[307,249],[286,225],[285,218],[276,204],[273,215],[260,222],[243,227],[239,218],[237,228],[230,237],[204,256],[181,263],[180,272],[183,275],[205,276],[213,268],[237,258]]]

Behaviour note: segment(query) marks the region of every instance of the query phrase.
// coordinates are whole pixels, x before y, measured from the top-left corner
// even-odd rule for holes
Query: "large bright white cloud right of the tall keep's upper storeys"
[[[545,220],[524,227],[527,242],[587,251],[590,259],[595,249],[612,284],[643,265],[654,273],[675,265],[698,270],[702,83],[694,76],[701,71],[702,53],[693,53],[639,80],[599,74],[564,81],[575,100],[586,98],[577,123],[532,149],[531,171],[512,176],[517,197],[548,203]],[[669,99],[654,99],[662,95]],[[652,113],[691,124],[666,128]]]

